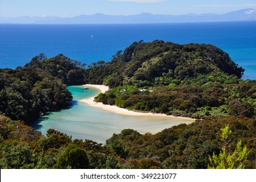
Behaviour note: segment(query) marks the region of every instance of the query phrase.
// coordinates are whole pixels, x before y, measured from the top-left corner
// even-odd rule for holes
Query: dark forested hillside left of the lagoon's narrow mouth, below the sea
[[[24,67],[0,69],[0,113],[33,122],[44,112],[67,108],[72,100],[67,85],[84,83],[84,66],[64,55],[40,54]]]

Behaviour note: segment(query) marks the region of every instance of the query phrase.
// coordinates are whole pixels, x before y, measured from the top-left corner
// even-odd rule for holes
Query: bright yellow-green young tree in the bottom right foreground
[[[215,153],[212,157],[209,156],[210,164],[208,164],[208,169],[242,169],[245,168],[244,161],[249,155],[249,151],[244,146],[242,148],[242,141],[240,140],[236,144],[236,149],[233,152],[229,152],[229,141],[227,138],[231,135],[232,131],[229,129],[229,125],[225,125],[221,129],[221,141],[223,141],[223,147],[221,148],[221,153],[216,155]]]

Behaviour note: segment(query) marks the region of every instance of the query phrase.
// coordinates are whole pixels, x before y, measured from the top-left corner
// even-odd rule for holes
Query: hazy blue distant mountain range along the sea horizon
[[[163,15],[142,13],[131,16],[117,16],[106,14],[80,15],[72,18],[59,18],[57,16],[16,18],[1,18],[0,23],[67,23],[67,24],[100,24],[100,23],[182,23],[182,22],[208,22],[208,21],[250,21],[256,20],[256,10],[252,8],[229,12],[226,14],[185,14]]]

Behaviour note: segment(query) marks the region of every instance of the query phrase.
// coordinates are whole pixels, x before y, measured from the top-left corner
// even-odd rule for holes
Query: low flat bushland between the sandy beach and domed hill
[[[155,86],[148,89],[125,85],[112,88],[105,94],[99,94],[95,101],[131,110],[194,118],[204,118],[210,115],[255,117],[256,99],[251,98],[251,94],[244,91],[238,92],[235,89],[236,86],[240,84]],[[251,90],[253,86],[248,85],[248,90]],[[240,96],[237,96],[238,94]],[[236,95],[237,99],[234,99],[233,95]]]

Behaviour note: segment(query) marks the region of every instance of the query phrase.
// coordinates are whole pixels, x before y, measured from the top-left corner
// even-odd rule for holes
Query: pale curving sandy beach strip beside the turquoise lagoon
[[[93,88],[97,88],[99,90],[101,90],[101,93],[105,93],[109,88],[108,86],[105,85],[83,85],[86,87],[93,87]],[[129,115],[129,116],[153,116],[153,117],[168,117],[168,118],[180,118],[182,120],[187,121],[189,123],[195,121],[195,119],[193,118],[185,118],[185,117],[176,117],[176,116],[169,116],[166,114],[155,114],[155,113],[144,113],[144,112],[135,112],[132,110],[127,110],[127,109],[123,109],[120,107],[116,107],[114,105],[104,105],[103,103],[97,103],[94,101],[95,96],[91,97],[91,98],[86,98],[86,99],[81,99],[81,102],[87,103],[88,105],[92,106],[92,107],[98,107],[104,110],[108,110],[110,112],[114,112],[116,114],[124,114],[124,115]]]

